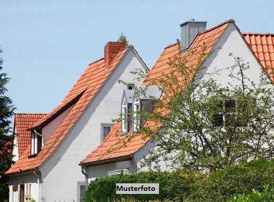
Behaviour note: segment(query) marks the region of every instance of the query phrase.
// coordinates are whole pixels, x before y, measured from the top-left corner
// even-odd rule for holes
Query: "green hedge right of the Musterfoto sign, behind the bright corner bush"
[[[227,201],[235,194],[262,191],[274,182],[274,162],[259,159],[210,174],[196,182],[191,201]]]

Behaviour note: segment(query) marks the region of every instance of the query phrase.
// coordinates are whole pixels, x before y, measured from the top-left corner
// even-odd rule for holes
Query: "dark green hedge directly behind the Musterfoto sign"
[[[101,177],[89,184],[84,201],[119,201],[123,197],[133,197],[140,201],[177,198],[178,190],[182,193],[180,196],[188,195],[192,190],[191,185],[200,177],[195,173],[170,172],[142,172],[133,175]],[[116,194],[116,183],[159,183],[159,194]]]

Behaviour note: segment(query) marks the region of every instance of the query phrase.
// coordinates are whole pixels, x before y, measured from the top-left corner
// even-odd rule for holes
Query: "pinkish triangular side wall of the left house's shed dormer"
[[[42,128],[42,137],[44,140],[44,144],[50,138],[51,134],[56,131],[58,126],[60,126],[61,122],[65,119],[65,117],[69,114],[73,106],[68,108],[65,112],[59,115],[57,118],[52,120],[49,124]]]

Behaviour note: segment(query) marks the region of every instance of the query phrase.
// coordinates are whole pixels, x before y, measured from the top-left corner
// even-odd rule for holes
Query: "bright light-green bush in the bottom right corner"
[[[248,194],[234,196],[230,202],[273,202],[274,188],[266,187],[262,192],[253,190]]]

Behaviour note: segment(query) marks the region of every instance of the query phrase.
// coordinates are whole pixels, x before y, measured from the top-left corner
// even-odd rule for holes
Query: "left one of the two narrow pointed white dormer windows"
[[[134,89],[126,89],[123,92],[122,103],[121,103],[121,131],[122,134],[128,132],[131,129],[132,124],[132,95]]]

